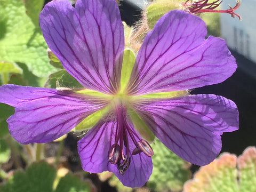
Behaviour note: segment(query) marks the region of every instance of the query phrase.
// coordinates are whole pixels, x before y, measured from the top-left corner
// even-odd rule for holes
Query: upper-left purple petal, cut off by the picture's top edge
[[[115,0],[78,0],[45,5],[39,22],[46,43],[63,67],[84,87],[115,92],[124,33]]]

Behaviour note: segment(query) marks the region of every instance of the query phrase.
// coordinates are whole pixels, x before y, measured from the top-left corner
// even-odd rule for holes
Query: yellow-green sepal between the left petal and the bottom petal
[[[101,118],[109,111],[109,106],[95,111],[93,114],[87,116],[82,122],[75,126],[76,131],[84,131],[93,127]]]

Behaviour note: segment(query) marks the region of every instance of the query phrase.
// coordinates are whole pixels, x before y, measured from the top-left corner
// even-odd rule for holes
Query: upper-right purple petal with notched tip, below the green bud
[[[195,15],[173,10],[150,31],[138,52],[129,91],[178,91],[225,81],[236,70],[226,42],[210,36]]]

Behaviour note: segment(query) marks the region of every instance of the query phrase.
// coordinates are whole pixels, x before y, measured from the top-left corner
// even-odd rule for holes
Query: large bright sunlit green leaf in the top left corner
[[[30,2],[30,1],[29,1]],[[0,0],[0,60],[26,63],[38,77],[52,73],[41,30],[26,14],[21,0]]]

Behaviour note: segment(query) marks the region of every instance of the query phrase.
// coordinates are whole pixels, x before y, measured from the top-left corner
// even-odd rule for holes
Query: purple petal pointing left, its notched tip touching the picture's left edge
[[[7,119],[12,137],[20,143],[49,142],[66,134],[105,102],[71,91],[3,85],[0,102],[15,107]]]

